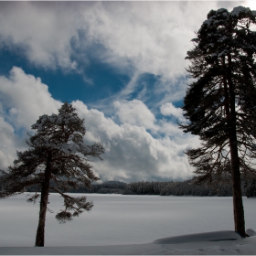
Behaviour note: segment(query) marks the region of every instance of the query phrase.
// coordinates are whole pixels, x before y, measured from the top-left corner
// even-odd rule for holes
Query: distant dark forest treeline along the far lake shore
[[[1,186],[0,186],[1,187]],[[256,179],[242,181],[242,193],[246,197],[256,197]],[[28,187],[27,192],[38,191],[37,187]],[[99,193],[123,195],[160,195],[160,196],[218,196],[231,197],[232,187],[229,184],[217,186],[196,185],[192,180],[187,181],[141,181],[130,184],[120,181],[107,181],[101,184],[92,184],[91,188],[80,185],[71,193]]]

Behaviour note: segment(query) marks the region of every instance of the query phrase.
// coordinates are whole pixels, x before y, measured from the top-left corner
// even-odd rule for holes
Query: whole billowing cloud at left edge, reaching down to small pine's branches
[[[14,67],[0,76],[0,168],[12,165],[16,150],[27,148],[27,133],[39,115],[57,112],[61,103],[51,98],[39,78]]]

